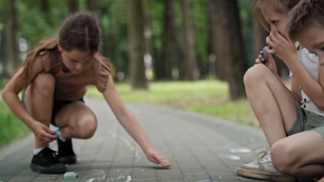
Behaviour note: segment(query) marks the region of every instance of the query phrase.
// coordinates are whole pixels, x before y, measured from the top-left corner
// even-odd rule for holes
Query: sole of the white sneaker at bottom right
[[[262,181],[276,181],[276,182],[295,182],[296,179],[291,176],[274,176],[270,174],[262,174],[258,172],[251,172],[249,170],[237,170],[237,176],[247,179],[258,179]]]

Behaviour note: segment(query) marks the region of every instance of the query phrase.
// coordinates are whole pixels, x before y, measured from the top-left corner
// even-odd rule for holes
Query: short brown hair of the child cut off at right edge
[[[287,32],[290,39],[296,41],[297,34],[309,26],[321,26],[324,28],[324,1],[323,0],[301,0],[291,11]]]

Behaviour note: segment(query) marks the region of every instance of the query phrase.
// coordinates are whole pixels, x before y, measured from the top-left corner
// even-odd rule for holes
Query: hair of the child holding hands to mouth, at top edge
[[[269,24],[267,21],[265,21],[262,10],[264,8],[270,8],[278,13],[285,13],[291,11],[294,6],[299,2],[300,0],[254,0],[253,7],[254,7],[254,17],[257,19],[260,24],[268,31],[270,32]],[[269,7],[267,7],[269,6]]]

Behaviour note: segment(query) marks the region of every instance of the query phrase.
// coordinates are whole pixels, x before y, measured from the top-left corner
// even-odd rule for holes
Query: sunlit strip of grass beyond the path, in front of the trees
[[[229,101],[228,85],[225,82],[152,82],[149,90],[132,90],[129,84],[118,83],[116,89],[120,97],[129,103],[162,105],[258,126],[249,101]],[[96,88],[91,87],[87,97],[98,98],[102,95]]]

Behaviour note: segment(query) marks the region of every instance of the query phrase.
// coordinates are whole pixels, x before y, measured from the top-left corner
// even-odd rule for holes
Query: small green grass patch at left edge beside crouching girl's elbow
[[[0,148],[28,133],[28,128],[9,110],[6,103],[0,101]]]

